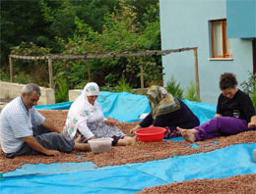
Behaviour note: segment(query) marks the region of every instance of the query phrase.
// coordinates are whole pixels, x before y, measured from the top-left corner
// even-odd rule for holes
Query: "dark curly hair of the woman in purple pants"
[[[221,90],[227,88],[234,88],[237,85],[237,80],[233,73],[223,73],[220,78],[220,88]]]

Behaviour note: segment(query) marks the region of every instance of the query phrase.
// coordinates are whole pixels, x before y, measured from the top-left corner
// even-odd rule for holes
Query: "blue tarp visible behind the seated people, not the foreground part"
[[[96,99],[103,114],[107,118],[118,121],[141,121],[142,114],[150,113],[150,104],[145,95],[131,94],[127,92],[113,93],[101,91]],[[200,123],[212,119],[216,113],[216,105],[183,100],[183,102],[198,117]],[[34,106],[35,109],[68,110],[72,102],[57,103],[53,105]]]

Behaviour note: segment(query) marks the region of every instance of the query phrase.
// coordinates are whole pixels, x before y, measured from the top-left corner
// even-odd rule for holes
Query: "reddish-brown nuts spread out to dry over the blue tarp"
[[[45,118],[53,121],[58,127],[63,127],[67,111],[40,110]],[[138,122],[117,122],[117,126],[124,132],[129,133]],[[218,141],[218,144],[214,143]],[[228,137],[219,137],[204,142],[196,142],[199,147],[193,148],[190,143],[181,141],[162,141],[144,143],[137,141],[132,146],[113,147],[110,152],[94,154],[92,152],[73,152],[71,154],[62,153],[59,157],[46,156],[21,156],[15,159],[7,159],[0,153],[0,171],[6,172],[21,168],[25,163],[30,164],[50,164],[64,162],[83,162],[92,161],[98,167],[109,165],[124,165],[127,163],[144,163],[147,161],[165,159],[178,156],[189,155],[200,152],[209,152],[224,148],[229,145],[239,143],[255,143],[256,131],[243,132]],[[84,157],[77,157],[82,155]],[[255,166],[256,168],[256,166]],[[150,187],[144,189],[141,193],[246,193],[255,194],[256,192],[256,174],[246,174],[231,176],[223,179],[203,179],[190,180],[183,182],[174,182],[167,185]]]

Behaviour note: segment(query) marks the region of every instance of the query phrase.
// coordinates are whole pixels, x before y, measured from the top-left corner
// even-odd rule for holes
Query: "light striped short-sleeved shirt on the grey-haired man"
[[[0,114],[0,138],[4,153],[18,151],[24,137],[33,135],[32,126],[45,120],[33,107],[27,111],[22,98],[17,97],[8,103]]]

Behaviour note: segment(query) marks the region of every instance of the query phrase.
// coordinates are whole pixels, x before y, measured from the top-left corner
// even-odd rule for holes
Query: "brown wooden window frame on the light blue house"
[[[223,55],[215,55],[215,37],[214,37],[214,24],[221,23],[222,24],[222,36],[223,36]],[[212,58],[216,59],[226,59],[231,58],[232,54],[228,54],[226,51],[226,19],[210,21],[211,24],[211,48],[212,48]]]

